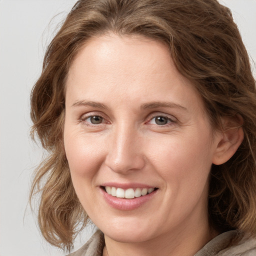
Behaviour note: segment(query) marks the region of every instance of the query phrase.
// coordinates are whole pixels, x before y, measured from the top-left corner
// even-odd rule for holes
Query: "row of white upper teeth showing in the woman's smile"
[[[154,190],[154,188],[153,187],[150,187],[150,188],[137,187],[135,190],[133,188],[128,188],[124,190],[120,187],[116,188],[114,186],[105,186],[105,190],[108,194],[111,194],[112,196],[131,199],[134,197],[139,197],[139,196],[149,194]]]

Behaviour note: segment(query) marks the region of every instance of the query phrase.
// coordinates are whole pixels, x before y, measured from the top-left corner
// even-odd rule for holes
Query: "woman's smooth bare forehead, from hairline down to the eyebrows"
[[[74,58],[66,81],[66,101],[193,101],[194,86],[176,69],[168,47],[143,36],[107,34],[90,39]],[[144,102],[142,102],[142,99]],[[178,102],[180,101],[180,102]],[[121,102],[122,103],[122,102]]]

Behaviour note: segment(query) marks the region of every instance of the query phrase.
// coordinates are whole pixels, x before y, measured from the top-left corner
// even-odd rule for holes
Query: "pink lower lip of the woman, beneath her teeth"
[[[156,193],[156,191],[158,189],[154,190],[153,192],[151,192],[149,194],[142,195],[139,197],[134,197],[131,199],[118,198],[118,197],[108,194],[104,189],[100,189],[100,190],[101,190],[106,202],[113,208],[118,209],[118,210],[134,210],[134,209],[140,207],[142,204],[149,201],[152,198],[152,196],[154,196],[154,194]]]

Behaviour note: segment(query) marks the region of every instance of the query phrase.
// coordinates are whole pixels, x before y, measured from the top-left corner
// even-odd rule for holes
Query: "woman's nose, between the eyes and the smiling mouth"
[[[144,167],[142,137],[138,133],[134,127],[125,124],[112,131],[105,158],[105,164],[110,169],[126,174]]]

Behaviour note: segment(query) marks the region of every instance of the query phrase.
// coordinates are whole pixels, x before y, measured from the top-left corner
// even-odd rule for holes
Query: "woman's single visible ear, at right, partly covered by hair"
[[[229,160],[243,140],[243,119],[240,115],[221,117],[222,130],[217,137],[217,147],[212,163],[219,165]]]

